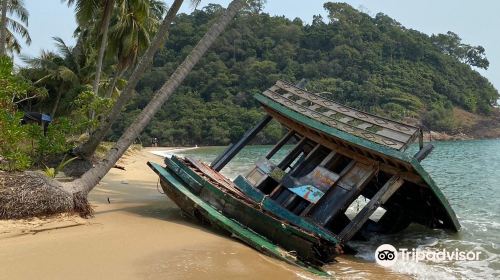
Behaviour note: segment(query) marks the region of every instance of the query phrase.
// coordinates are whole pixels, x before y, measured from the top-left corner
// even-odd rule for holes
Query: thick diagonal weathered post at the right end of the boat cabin
[[[340,232],[342,242],[350,240],[356,232],[365,224],[377,208],[384,204],[404,183],[399,176],[393,176],[384,186],[370,199],[370,202],[361,209],[354,219]]]

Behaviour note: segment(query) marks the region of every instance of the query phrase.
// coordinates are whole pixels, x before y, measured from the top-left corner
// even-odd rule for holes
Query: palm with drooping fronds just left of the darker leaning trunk
[[[109,30],[109,53],[117,60],[115,73],[108,83],[106,97],[111,97],[116,82],[135,64],[139,54],[151,44],[165,13],[160,1],[122,1]]]

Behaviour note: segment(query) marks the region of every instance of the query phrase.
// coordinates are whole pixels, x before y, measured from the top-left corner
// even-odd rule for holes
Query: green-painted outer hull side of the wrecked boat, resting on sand
[[[197,218],[202,223],[209,224],[210,226],[231,233],[241,241],[245,242],[246,244],[255,248],[256,250],[263,252],[264,254],[273,256],[287,263],[299,266],[311,273],[322,276],[329,276],[327,272],[323,271],[318,266],[308,265],[306,262],[302,261],[300,258],[297,258],[296,256],[289,253],[282,247],[276,245],[268,238],[258,234],[249,226],[245,226],[240,219],[236,221],[236,219],[231,219],[226,215],[224,215],[224,212],[227,212],[230,209],[238,210],[239,212],[242,213],[248,213],[247,211],[252,212],[252,210],[241,208],[241,205],[239,205],[238,203],[234,204],[233,207],[239,206],[240,208],[229,207],[229,209],[227,208],[218,209],[217,207],[213,206],[213,204],[218,205],[220,199],[225,201],[225,204],[232,204],[231,201],[234,200],[229,198],[227,194],[217,194],[217,193],[212,193],[212,195],[207,195],[206,193],[204,195],[195,194],[193,193],[193,185],[196,185],[199,182],[197,182],[197,180],[192,178],[189,174],[184,173],[182,174],[181,177],[178,176],[176,172],[173,172],[172,170],[167,170],[158,164],[148,162],[148,165],[154,172],[156,172],[160,176],[161,186],[165,191],[165,193],[168,195],[168,197],[171,198],[187,214]],[[186,184],[184,181],[188,180],[189,177],[191,177],[190,180],[192,180],[191,186],[189,184]],[[198,191],[202,193],[203,190],[207,192],[212,191],[205,187],[202,187]],[[218,197],[219,195],[222,195],[222,197]],[[208,202],[206,201],[207,196],[211,197],[209,199],[211,201]],[[220,205],[218,206],[220,207]],[[251,216],[249,218],[259,221],[258,219],[259,217],[257,217],[257,219],[255,216]],[[269,221],[260,220],[260,222],[263,222],[265,226],[271,229],[274,226],[276,226],[273,224],[269,224]],[[288,236],[289,240],[293,240],[295,242],[297,242],[297,238],[301,239],[302,243],[310,242],[303,239],[302,237],[297,237],[294,234],[294,229],[291,229],[289,226],[285,224],[280,224],[279,226],[282,227],[281,234],[277,233],[277,236],[274,237],[281,238],[282,235],[284,234]],[[271,238],[272,237],[273,236],[271,236]]]

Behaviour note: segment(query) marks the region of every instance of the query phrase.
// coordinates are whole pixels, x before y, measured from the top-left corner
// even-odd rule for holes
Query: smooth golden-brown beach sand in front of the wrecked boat
[[[90,196],[94,218],[0,221],[0,279],[315,278],[183,217],[159,193],[148,160],[162,162],[146,148],[121,159],[125,171],[106,175]],[[338,278],[402,277],[350,257],[328,270]]]

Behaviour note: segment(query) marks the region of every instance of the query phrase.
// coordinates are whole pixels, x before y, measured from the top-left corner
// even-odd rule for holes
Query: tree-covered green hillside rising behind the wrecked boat
[[[309,79],[307,88],[329,98],[429,129],[455,132],[453,109],[488,115],[498,91],[474,67],[487,68],[485,50],[448,32],[428,36],[384,14],[371,17],[347,4],[326,3],[329,16],[300,19],[257,11],[241,14],[164,105],[142,139],[162,145],[222,145],[237,140],[261,117],[252,95],[277,79]],[[133,116],[201,38],[221,12],[209,5],[182,14],[114,126],[120,136]],[[281,131],[267,129],[259,142]]]

